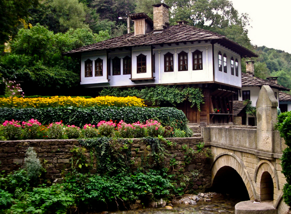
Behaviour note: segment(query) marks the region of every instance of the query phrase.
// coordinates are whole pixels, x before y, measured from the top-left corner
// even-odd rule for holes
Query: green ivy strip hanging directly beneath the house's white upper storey
[[[200,104],[204,103],[202,90],[200,88],[190,87],[189,85],[186,87],[156,85],[155,87],[146,87],[144,89],[127,88],[123,90],[109,87],[104,88],[100,92],[100,96],[136,96],[157,105],[161,104],[161,102],[168,102],[176,105],[184,100],[188,100],[192,103],[191,107],[196,105],[199,111]]]

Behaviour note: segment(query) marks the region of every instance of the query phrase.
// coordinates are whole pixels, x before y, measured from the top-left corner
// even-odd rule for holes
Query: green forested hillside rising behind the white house
[[[26,95],[82,95],[80,62],[62,52],[127,33],[128,14],[153,16],[160,0],[1,0],[0,75],[21,82]],[[291,55],[254,47],[246,27],[229,0],[164,0],[170,24],[187,20],[192,26],[221,33],[255,51],[256,76],[278,76],[291,87]],[[133,27],[133,23],[131,23]],[[6,43],[6,45],[4,45]],[[5,51],[3,51],[5,49]],[[244,60],[243,60],[244,61]],[[242,65],[244,69],[244,64]],[[1,94],[5,85],[2,84]]]

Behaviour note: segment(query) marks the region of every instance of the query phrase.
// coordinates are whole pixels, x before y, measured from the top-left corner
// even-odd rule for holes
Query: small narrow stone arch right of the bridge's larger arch
[[[279,178],[275,166],[271,162],[267,160],[262,160],[259,162],[255,170],[254,181],[256,182],[257,193],[260,200],[278,200],[278,198],[275,198],[275,195],[278,195],[280,188]],[[276,191],[274,191],[275,189]],[[272,196],[266,198],[266,191],[269,191],[270,193],[268,193]]]

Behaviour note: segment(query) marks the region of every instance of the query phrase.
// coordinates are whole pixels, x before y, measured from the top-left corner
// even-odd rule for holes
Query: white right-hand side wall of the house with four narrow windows
[[[218,70],[218,52],[222,54],[222,71]],[[223,70],[223,55],[226,54],[227,58],[227,73]],[[239,62],[239,76],[235,75],[235,64],[234,64],[234,75],[231,75],[231,67],[230,60],[231,57],[235,60],[237,59]],[[230,85],[235,85],[238,87],[242,87],[242,66],[241,66],[241,56],[230,49],[226,49],[220,45],[214,45],[214,67],[215,67],[215,82],[226,83]]]

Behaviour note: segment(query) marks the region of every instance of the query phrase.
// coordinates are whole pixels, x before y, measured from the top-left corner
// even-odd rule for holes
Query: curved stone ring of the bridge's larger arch
[[[245,165],[237,155],[230,152],[220,153],[214,158],[213,164],[211,165],[211,184],[213,183],[213,180],[219,169],[225,166],[233,168],[241,176],[242,181],[244,182],[244,185],[247,189],[249,198],[251,200],[258,199],[252,178],[249,175]]]

